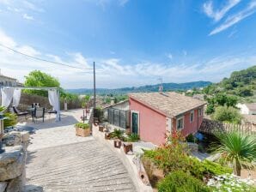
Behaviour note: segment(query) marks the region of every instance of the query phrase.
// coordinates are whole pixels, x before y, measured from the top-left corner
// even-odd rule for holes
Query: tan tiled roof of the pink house
[[[206,104],[204,101],[174,92],[131,93],[129,96],[131,99],[136,99],[156,111],[161,111],[168,117],[177,117],[186,111],[191,111]]]

